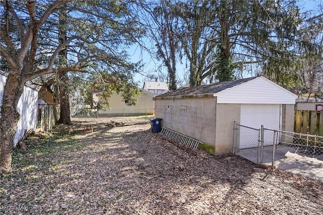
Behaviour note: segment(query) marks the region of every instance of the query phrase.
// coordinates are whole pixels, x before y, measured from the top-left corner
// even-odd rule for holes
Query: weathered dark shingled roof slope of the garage
[[[207,84],[207,85],[200,85],[200,86],[195,86],[190,88],[181,88],[175,91],[161,94],[159,96],[156,96],[155,98],[218,93],[225,89],[232,88],[238,84],[252,80],[256,77],[257,76],[238,79],[238,80],[230,80],[230,81],[224,81],[219,83]]]

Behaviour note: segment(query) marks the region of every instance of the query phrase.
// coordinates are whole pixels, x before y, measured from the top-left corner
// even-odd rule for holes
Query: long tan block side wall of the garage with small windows
[[[181,106],[187,107],[186,113]],[[216,142],[216,112],[216,97],[155,99],[155,117],[163,119],[161,125],[209,145]]]

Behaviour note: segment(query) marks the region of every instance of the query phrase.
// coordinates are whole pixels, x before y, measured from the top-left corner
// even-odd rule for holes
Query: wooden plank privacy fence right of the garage
[[[295,110],[294,132],[323,136],[323,110]]]

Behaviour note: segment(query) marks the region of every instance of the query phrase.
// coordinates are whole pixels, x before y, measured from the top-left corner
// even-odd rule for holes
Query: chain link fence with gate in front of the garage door
[[[323,183],[323,137],[234,124],[233,152]]]

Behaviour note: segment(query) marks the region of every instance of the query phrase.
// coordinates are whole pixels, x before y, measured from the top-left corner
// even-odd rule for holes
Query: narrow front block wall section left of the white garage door
[[[240,104],[217,104],[216,155],[232,152],[234,121],[240,123]]]

